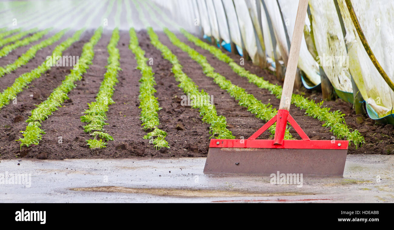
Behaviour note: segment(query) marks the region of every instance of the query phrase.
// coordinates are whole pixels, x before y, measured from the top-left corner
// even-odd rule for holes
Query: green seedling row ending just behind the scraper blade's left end
[[[196,95],[197,97],[203,98],[203,103],[193,103],[192,108],[199,109],[200,116],[203,117],[203,122],[210,124],[209,133],[212,135],[211,138],[218,139],[234,139],[231,131],[227,129],[227,121],[223,116],[218,116],[216,107],[213,104],[209,104],[205,99],[208,98],[208,93],[204,90],[199,91],[198,86],[182,71],[182,65],[179,64],[178,58],[174,55],[171,50],[160,42],[158,36],[153,31],[152,27],[147,28],[147,33],[151,39],[151,44],[162,52],[164,59],[171,62],[173,67],[171,71],[174,73],[175,80],[179,82],[178,87],[183,90],[185,94]]]

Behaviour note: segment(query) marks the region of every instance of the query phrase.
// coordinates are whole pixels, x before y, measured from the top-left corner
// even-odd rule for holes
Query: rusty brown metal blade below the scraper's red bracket
[[[342,176],[344,149],[209,148],[204,173]]]

